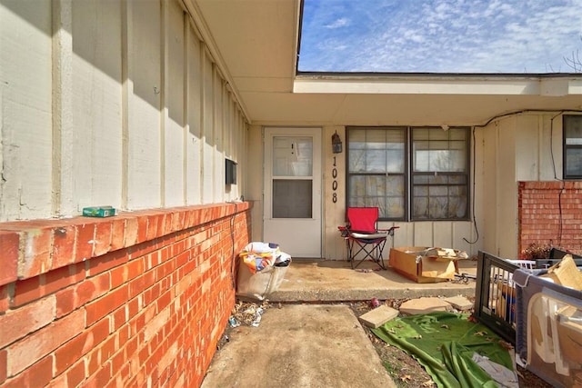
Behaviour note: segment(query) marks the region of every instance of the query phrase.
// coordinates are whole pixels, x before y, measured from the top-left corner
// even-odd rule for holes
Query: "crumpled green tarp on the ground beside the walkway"
[[[486,356],[513,371],[511,356],[500,337],[466,313],[426,313],[396,318],[372,329],[422,364],[439,387],[497,387],[472,357]]]

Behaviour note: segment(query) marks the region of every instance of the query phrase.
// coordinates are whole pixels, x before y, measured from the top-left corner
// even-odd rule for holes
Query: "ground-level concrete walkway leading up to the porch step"
[[[239,326],[204,383],[215,387],[394,387],[347,305],[285,304]]]

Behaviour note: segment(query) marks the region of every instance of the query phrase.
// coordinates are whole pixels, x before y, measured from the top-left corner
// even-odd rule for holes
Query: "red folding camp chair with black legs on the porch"
[[[340,232],[346,238],[347,261],[351,263],[352,269],[357,268],[364,260],[370,259],[386,269],[382,253],[386,245],[388,236],[393,236],[398,226],[389,229],[378,229],[378,208],[377,207],[348,207],[346,226],[339,226]],[[356,265],[358,254],[363,254]]]

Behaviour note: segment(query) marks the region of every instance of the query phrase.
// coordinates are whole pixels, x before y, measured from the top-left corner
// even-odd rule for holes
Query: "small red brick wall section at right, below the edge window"
[[[519,182],[519,252],[553,244],[582,253],[582,182]]]

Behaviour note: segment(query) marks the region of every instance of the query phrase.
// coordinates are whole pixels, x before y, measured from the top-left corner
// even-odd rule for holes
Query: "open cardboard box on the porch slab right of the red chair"
[[[439,255],[435,248],[404,246],[390,249],[388,265],[416,283],[447,282],[455,279],[456,261],[464,257]]]

